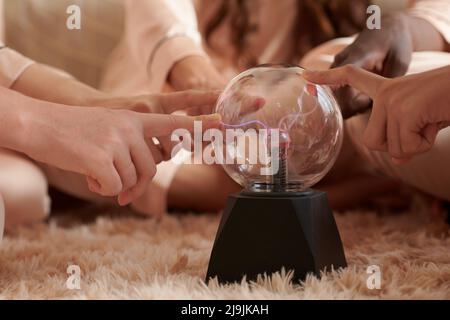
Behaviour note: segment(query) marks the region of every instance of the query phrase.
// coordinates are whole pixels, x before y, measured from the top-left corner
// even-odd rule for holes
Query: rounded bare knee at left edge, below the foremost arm
[[[47,180],[24,156],[0,149],[0,194],[5,209],[5,228],[45,220],[50,213]]]

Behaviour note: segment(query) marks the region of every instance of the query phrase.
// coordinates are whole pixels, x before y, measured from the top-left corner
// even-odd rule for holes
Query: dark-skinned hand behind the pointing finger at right
[[[335,57],[331,68],[352,64],[388,78],[404,75],[413,52],[407,19],[404,14],[383,17],[380,30],[362,31],[350,46]],[[335,96],[345,119],[364,112],[372,104],[367,95],[349,87],[336,90]]]

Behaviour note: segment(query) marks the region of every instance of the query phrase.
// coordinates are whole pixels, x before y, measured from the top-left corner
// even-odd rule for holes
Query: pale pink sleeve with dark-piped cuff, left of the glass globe
[[[124,4],[125,34],[109,60],[102,89],[158,92],[177,61],[205,55],[190,0],[124,0]]]

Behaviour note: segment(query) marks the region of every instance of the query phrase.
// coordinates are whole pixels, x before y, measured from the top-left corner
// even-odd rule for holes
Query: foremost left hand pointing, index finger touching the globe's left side
[[[29,111],[29,110],[28,110]],[[139,197],[156,173],[161,151],[146,139],[219,126],[216,115],[187,117],[143,114],[127,110],[68,107],[42,102],[25,112],[26,132],[20,151],[31,158],[87,177],[89,189],[117,196],[120,205]]]

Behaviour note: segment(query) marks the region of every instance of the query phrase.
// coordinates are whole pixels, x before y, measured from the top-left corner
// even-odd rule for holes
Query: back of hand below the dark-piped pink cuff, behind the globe
[[[169,83],[175,90],[222,89],[226,84],[212,63],[201,56],[177,62],[169,74]]]

